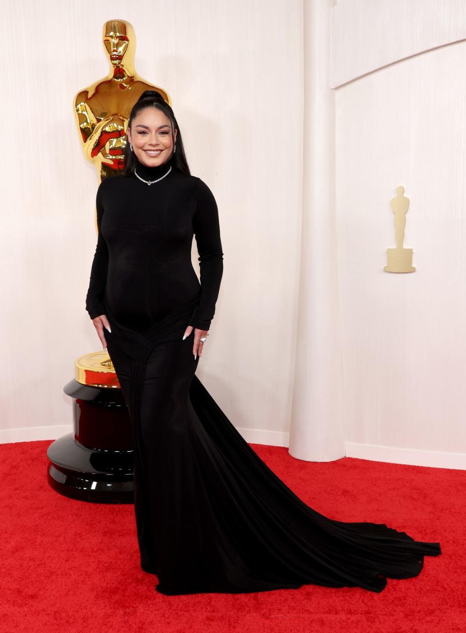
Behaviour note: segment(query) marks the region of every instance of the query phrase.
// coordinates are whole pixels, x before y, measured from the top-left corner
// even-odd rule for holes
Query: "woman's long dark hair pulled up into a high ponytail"
[[[175,115],[173,114],[173,110],[171,106],[165,101],[165,99],[161,96],[160,92],[155,90],[146,90],[142,92],[139,99],[137,99],[136,103],[132,107],[131,113],[128,119],[128,127],[131,127],[131,124],[137,114],[144,110],[144,108],[158,108],[165,115],[167,115],[170,120],[170,124],[172,126],[172,142],[173,147],[175,147],[175,130],[177,131],[177,149],[175,153],[172,153],[172,156],[168,159],[170,165],[173,168],[179,169],[181,172],[187,173],[187,175],[191,175],[189,171],[189,166],[186,160],[186,154],[184,153],[183,140],[181,138],[181,132],[177,120],[175,119]],[[126,143],[125,147],[125,166],[120,172],[122,176],[129,176],[134,172],[134,168],[137,166],[137,158],[135,153],[130,150],[129,141]]]

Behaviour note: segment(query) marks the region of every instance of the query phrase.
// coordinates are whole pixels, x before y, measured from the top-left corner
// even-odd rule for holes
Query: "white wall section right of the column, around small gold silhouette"
[[[465,468],[466,42],[441,44],[466,37],[466,9],[394,4],[333,9],[331,83],[349,82],[335,91],[346,454]],[[363,72],[353,35],[374,25],[365,72],[410,57],[352,80]],[[417,267],[405,275],[383,272],[398,185],[410,198],[405,247]]]

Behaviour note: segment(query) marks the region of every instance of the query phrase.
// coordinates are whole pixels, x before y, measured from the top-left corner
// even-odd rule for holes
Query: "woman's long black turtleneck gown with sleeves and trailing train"
[[[194,330],[209,329],[223,272],[215,199],[172,165],[104,180],[86,309],[105,314],[108,352],[134,440],[141,567],[163,594],[359,586],[419,574],[438,542],[385,523],[332,520],[251,449],[196,377]],[[201,281],[192,267],[193,234]],[[206,342],[208,344],[208,341]]]

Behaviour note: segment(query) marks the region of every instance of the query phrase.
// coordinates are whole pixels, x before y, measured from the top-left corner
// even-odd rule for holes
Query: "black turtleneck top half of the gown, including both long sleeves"
[[[136,172],[156,180],[170,164],[149,168],[138,161]],[[207,185],[172,165],[152,185],[134,173],[104,180],[96,206],[99,237],[87,296],[91,318],[105,313],[106,301],[123,325],[142,330],[198,296],[190,325],[208,329],[223,252],[217,204]],[[193,235],[200,282],[191,260]]]

